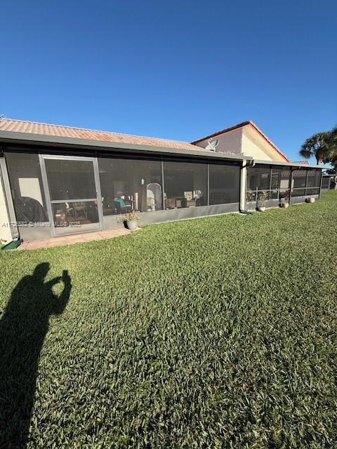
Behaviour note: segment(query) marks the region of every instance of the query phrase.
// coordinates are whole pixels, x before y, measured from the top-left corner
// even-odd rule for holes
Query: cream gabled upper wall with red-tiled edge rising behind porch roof
[[[216,152],[250,156],[260,161],[291,162],[252,121],[244,121],[194,140],[192,144],[206,148],[209,142],[218,140]]]

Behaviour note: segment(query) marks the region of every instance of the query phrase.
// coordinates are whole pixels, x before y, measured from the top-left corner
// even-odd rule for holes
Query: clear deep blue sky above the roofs
[[[178,140],[337,124],[337,3],[1,2],[0,114]]]

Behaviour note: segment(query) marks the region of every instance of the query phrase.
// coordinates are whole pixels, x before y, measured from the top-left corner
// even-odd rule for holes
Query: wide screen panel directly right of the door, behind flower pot
[[[99,158],[103,215],[162,209],[161,162]]]

